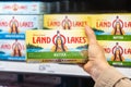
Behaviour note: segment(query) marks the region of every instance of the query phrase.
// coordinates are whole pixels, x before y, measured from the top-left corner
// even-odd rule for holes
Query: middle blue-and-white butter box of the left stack
[[[25,39],[27,29],[43,27],[43,15],[0,15],[0,38]]]

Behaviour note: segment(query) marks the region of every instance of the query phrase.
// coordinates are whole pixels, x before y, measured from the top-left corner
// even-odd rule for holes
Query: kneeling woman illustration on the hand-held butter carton
[[[51,51],[62,52],[68,51],[67,46],[63,44],[62,36],[59,30],[57,30],[57,37],[55,40],[55,46],[51,48]]]

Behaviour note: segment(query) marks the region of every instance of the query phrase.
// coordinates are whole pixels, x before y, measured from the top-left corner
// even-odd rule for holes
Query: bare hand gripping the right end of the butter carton
[[[104,50],[98,45],[92,28],[86,26],[85,33],[88,39],[88,62],[84,64],[83,69],[91,74],[94,80],[96,80],[100,73],[110,67],[110,65],[108,64]]]

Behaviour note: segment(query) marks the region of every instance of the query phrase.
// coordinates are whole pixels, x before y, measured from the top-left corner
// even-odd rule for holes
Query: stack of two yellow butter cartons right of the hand
[[[131,14],[93,15],[92,28],[111,65],[131,65]]]

